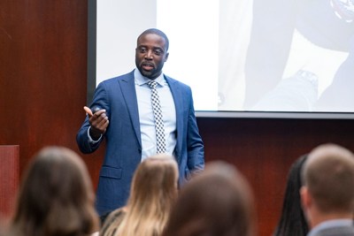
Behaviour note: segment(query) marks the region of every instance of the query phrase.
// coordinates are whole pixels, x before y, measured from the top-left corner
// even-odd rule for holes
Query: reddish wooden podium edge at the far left
[[[0,145],[0,220],[11,217],[19,187],[19,145]]]

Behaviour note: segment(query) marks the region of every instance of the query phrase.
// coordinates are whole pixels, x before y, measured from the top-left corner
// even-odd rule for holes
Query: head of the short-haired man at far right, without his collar
[[[310,222],[313,215],[311,207],[321,215],[348,214],[352,217],[354,156],[350,150],[332,143],[314,148],[304,164],[302,177],[304,187],[301,194],[303,204],[310,212]],[[311,206],[304,201],[309,196],[312,199]]]

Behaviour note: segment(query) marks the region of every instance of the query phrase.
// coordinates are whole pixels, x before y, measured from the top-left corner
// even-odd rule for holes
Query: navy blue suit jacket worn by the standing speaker
[[[171,89],[176,109],[177,144],[174,155],[179,165],[181,186],[189,179],[191,172],[204,169],[204,143],[196,125],[191,89],[167,76],[165,80]],[[104,215],[127,203],[130,183],[142,158],[134,71],[101,82],[90,107],[96,106],[105,109],[110,120],[103,139],[97,143],[89,141],[87,116],[76,140],[83,153],[94,152],[102,141],[106,141],[96,193],[96,209],[99,215]]]

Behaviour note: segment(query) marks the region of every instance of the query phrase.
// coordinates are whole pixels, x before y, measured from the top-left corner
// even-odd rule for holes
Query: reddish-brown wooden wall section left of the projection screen
[[[85,117],[86,0],[0,1],[0,145],[19,144],[20,173],[43,146],[79,151]],[[103,149],[83,156],[97,179]]]

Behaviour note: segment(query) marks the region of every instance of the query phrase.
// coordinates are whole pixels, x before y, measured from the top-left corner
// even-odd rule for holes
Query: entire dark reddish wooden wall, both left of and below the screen
[[[88,1],[0,1],[0,145],[19,145],[19,170],[46,145],[79,152],[85,116]],[[353,120],[198,118],[206,161],[226,160],[250,180],[259,235],[279,217],[290,164],[323,142],[354,150]],[[81,155],[96,186],[104,147]]]

